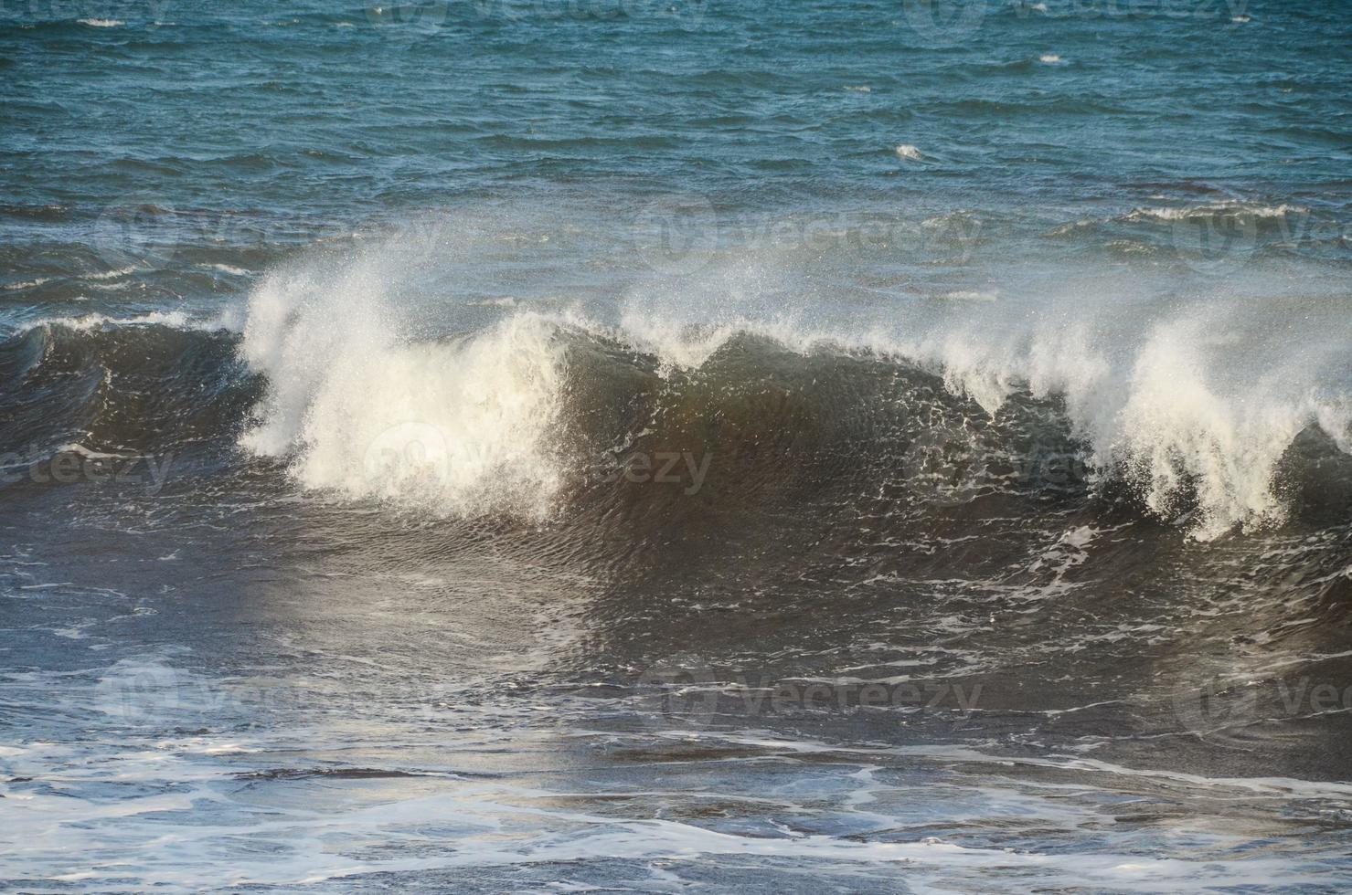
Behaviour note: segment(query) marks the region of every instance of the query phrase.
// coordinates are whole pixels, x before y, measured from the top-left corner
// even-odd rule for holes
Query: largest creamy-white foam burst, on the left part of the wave
[[[243,354],[268,374],[242,444],[301,483],[453,514],[544,517],[561,477],[556,323],[522,313],[453,340],[415,340],[380,261],[300,270],[253,294]]]

